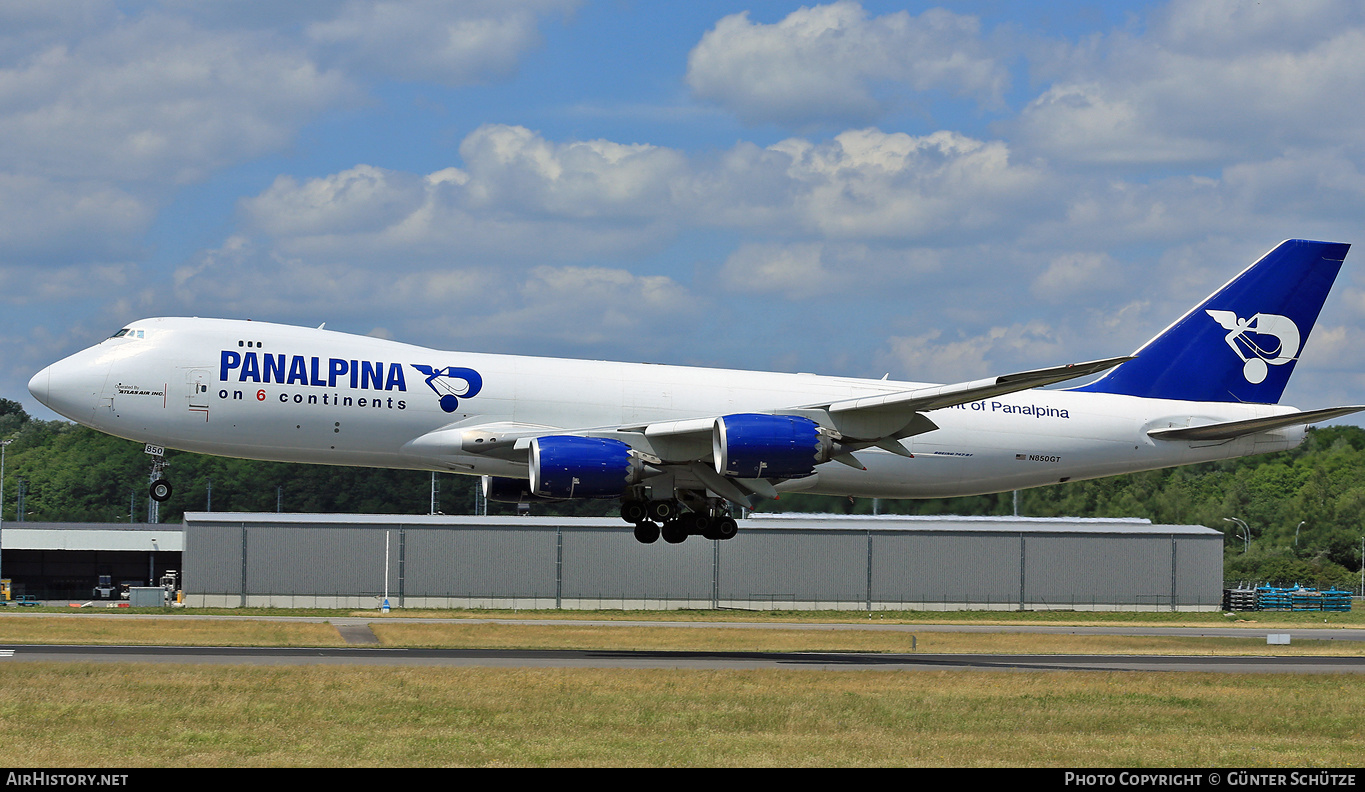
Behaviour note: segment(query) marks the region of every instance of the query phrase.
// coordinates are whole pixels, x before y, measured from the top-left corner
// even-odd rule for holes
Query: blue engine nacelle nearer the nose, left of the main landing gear
[[[568,434],[532,440],[530,466],[531,493],[542,498],[614,498],[647,472],[620,440]]]

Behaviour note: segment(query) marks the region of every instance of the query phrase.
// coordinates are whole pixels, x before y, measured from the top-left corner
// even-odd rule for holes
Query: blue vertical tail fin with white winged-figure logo
[[[1339,242],[1282,242],[1132,360],[1076,391],[1278,403],[1347,250]]]

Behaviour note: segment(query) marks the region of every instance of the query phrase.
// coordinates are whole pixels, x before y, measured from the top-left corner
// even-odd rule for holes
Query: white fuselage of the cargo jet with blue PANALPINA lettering
[[[57,412],[117,437],[277,462],[526,478],[524,462],[468,453],[440,440],[457,433],[433,433],[486,425],[633,427],[925,386],[446,352],[248,321],[156,318],[128,328],[53,363],[30,389]],[[472,369],[482,386],[446,411],[441,391],[414,366]],[[829,462],[779,489],[949,497],[1228,459],[1291,448],[1304,427],[1205,442],[1155,440],[1148,432],[1286,412],[1294,410],[1025,391],[928,412],[938,429],[902,441],[913,459],[859,451],[867,470]]]

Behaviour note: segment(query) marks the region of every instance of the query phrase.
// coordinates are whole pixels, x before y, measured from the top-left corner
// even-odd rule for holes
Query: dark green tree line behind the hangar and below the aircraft
[[[64,421],[35,421],[0,399],[4,504],[16,520],[23,481],[29,522],[146,522],[150,463],[143,447]],[[186,511],[429,513],[425,471],[225,459],[168,451],[175,496],[160,522]],[[479,479],[437,474],[437,511],[472,513]],[[534,504],[535,513],[609,516],[614,501]],[[905,515],[1010,515],[1014,493],[938,500],[788,494],[759,511]],[[489,504],[487,513],[513,513]],[[1022,516],[1147,518],[1200,524],[1226,535],[1224,578],[1351,589],[1361,582],[1365,535],[1365,430],[1313,429],[1295,449],[1021,490]],[[1237,520],[1241,520],[1238,523]],[[1244,530],[1241,526],[1245,524]]]

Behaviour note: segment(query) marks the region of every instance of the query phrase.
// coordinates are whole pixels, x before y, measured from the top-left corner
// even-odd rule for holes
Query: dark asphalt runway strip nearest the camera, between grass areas
[[[1208,673],[1365,673],[1365,658],[1361,657],[0,646],[0,662],[46,661],[169,662],[205,665],[635,668],[693,670],[1145,670]]]

